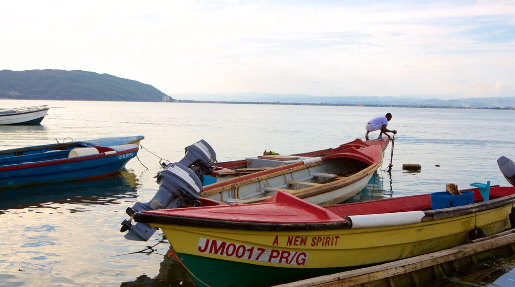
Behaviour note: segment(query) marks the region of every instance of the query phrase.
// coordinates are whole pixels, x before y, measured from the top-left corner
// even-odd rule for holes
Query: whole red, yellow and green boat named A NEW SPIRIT
[[[473,203],[439,209],[433,209],[432,194],[322,207],[278,191],[262,203],[201,198],[200,207],[140,211],[133,218],[162,229],[199,285],[274,285],[427,254],[513,228],[515,187],[489,188],[486,201],[479,189],[470,189],[462,193]]]

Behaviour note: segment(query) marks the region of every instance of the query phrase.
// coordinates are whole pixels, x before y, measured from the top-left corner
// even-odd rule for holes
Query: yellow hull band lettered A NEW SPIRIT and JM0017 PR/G
[[[355,267],[399,260],[510,228],[510,206],[402,226],[316,231],[244,231],[151,224],[178,254],[288,268]]]

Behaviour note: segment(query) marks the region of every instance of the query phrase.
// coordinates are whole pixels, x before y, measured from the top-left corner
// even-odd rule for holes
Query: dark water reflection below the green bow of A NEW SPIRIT
[[[143,287],[143,286],[196,286],[188,275],[186,269],[174,257],[164,256],[159,266],[159,274],[150,278],[143,274],[134,281],[123,282],[121,287]]]

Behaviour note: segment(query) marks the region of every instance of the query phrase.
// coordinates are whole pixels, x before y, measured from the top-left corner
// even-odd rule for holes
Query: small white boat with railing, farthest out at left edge
[[[46,105],[0,109],[0,125],[39,124],[50,109]]]

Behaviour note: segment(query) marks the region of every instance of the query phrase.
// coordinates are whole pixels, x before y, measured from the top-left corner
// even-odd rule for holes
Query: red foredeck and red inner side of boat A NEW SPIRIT
[[[423,222],[504,207],[515,201],[515,187],[491,187],[491,199],[486,202],[482,201],[479,189],[468,190],[473,190],[475,201],[480,202],[437,210],[431,210],[430,194],[320,207],[291,194],[277,192],[263,203],[140,211],[134,214],[134,220],[233,230],[333,230],[352,227],[346,216],[422,210],[425,214]]]

